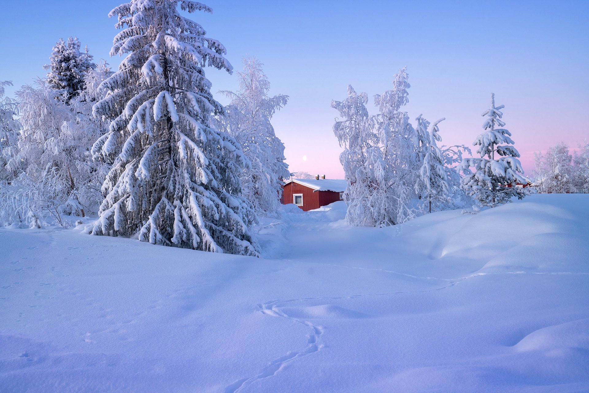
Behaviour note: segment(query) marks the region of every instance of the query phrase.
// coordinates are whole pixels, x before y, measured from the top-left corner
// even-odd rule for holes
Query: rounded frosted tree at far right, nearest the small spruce
[[[564,142],[550,146],[545,154],[534,153],[535,177],[540,193],[574,193],[573,156]]]

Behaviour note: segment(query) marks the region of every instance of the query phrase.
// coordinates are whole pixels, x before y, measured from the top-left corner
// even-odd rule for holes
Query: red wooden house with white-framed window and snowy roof
[[[317,176],[318,178],[319,176]],[[345,180],[290,179],[284,183],[282,204],[294,203],[305,212],[343,200]]]

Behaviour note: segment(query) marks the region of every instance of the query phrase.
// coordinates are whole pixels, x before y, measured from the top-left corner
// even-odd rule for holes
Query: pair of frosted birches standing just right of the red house
[[[427,130],[420,137],[408,114],[401,111],[408,103],[409,87],[406,68],[402,68],[392,89],[375,95],[379,113],[374,116],[366,110],[366,94],[356,94],[351,87],[345,101],[332,101],[343,118],[336,121],[333,132],[344,147],[340,161],[348,180],[344,200],[351,225],[389,226],[418,213],[415,184],[423,147],[419,141],[425,143],[429,137]]]

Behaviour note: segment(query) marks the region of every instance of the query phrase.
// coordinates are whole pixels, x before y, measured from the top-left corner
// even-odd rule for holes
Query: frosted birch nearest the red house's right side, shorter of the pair
[[[366,93],[357,94],[348,86],[348,98],[331,104],[343,118],[336,119],[333,133],[344,148],[339,160],[348,182],[343,194],[348,205],[346,221],[353,226],[385,226],[391,224],[384,192],[385,164],[366,103]]]

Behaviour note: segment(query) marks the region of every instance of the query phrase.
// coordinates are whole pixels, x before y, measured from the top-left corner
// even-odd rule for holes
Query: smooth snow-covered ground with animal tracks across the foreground
[[[287,206],[268,259],[1,229],[0,391],[589,391],[589,195],[329,208]]]

